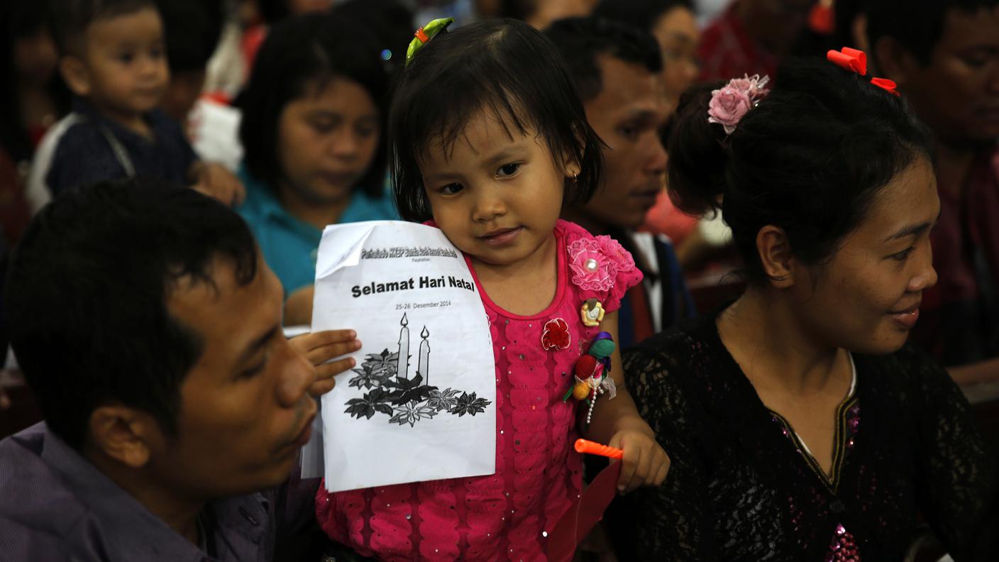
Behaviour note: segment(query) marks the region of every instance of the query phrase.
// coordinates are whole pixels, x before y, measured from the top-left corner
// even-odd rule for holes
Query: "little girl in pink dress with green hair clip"
[[[554,46],[513,21],[463,27],[422,48],[401,78],[390,138],[401,214],[432,219],[465,253],[486,305],[496,473],[321,488],[317,518],[335,541],[379,560],[545,560],[548,532],[582,488],[572,449],[580,429],[623,449],[622,491],[658,485],[669,464],[627,394],[616,351],[594,409],[572,396],[580,357],[616,337],[620,299],[641,280],[617,242],[558,219],[564,198],[597,187],[599,139]]]

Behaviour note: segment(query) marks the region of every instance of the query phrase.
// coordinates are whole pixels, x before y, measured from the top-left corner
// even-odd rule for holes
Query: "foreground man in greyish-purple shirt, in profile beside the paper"
[[[35,218],[11,344],[45,422],[0,441],[4,560],[271,560],[314,520],[290,478],[353,331],[286,340],[243,220],[194,190],[98,184]],[[314,365],[322,365],[319,368]]]

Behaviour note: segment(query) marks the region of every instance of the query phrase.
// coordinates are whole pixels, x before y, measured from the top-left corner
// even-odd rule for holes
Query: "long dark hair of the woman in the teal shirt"
[[[330,14],[303,14],[271,28],[250,83],[236,104],[243,110],[240,140],[250,173],[277,189],[284,172],[278,157],[281,113],[289,102],[337,77],[357,82],[379,109],[379,145],[368,172],[358,183],[371,197],[385,193],[389,76],[381,48],[357,22]]]

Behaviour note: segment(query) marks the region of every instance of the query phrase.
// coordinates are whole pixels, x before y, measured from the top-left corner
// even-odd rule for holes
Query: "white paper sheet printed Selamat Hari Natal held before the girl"
[[[331,492],[496,470],[496,363],[464,256],[437,228],[327,227],[313,330],[354,329],[356,367],[322,398]]]

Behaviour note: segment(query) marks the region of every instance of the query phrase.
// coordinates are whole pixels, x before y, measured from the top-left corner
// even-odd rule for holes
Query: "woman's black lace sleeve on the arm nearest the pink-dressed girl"
[[[694,424],[681,385],[662,356],[647,347],[630,351],[622,361],[638,413],[655,431],[671,465],[661,486],[621,498],[610,523],[621,559],[716,560],[704,471],[695,441],[688,439]]]

